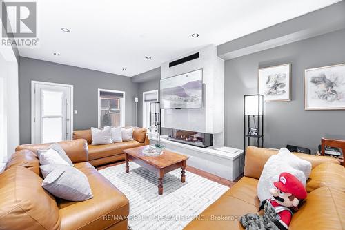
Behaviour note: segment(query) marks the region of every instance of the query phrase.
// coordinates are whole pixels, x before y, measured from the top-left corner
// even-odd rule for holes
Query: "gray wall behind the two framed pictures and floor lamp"
[[[243,97],[257,93],[258,68],[292,64],[291,102],[266,102],[264,146],[286,144],[316,151],[321,137],[345,139],[345,111],[304,110],[304,70],[345,63],[345,30],[331,32],[251,55],[225,64],[226,146],[243,148]]]

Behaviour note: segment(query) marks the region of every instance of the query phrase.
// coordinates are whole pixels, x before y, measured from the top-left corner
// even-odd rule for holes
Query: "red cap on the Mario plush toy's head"
[[[274,182],[275,187],[284,193],[291,193],[298,199],[306,198],[306,188],[294,175],[280,173],[279,182]]]

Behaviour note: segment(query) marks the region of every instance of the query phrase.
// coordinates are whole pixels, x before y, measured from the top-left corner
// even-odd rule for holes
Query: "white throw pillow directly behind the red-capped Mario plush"
[[[264,165],[262,174],[257,184],[257,197],[260,201],[272,198],[269,189],[274,188],[273,182],[277,182],[280,173],[290,173],[306,186],[306,176],[298,169],[294,169],[292,166],[282,160],[282,157],[273,155],[268,158],[268,161]]]

